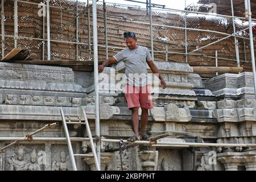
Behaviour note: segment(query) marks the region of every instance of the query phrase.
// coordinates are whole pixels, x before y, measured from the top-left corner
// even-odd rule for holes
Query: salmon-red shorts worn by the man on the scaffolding
[[[128,104],[128,109],[139,106],[141,106],[144,109],[153,108],[150,85],[133,86],[126,84],[125,98]]]

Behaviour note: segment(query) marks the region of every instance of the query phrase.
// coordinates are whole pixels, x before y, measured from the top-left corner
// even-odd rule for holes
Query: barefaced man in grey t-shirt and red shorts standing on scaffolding
[[[136,140],[141,140],[141,137],[143,140],[147,139],[146,126],[148,109],[153,108],[150,85],[147,79],[147,64],[151,71],[160,79],[163,89],[166,88],[166,82],[160,75],[148,49],[137,45],[137,38],[134,32],[125,32],[123,37],[125,38],[128,48],[106,59],[102,65],[98,66],[98,72],[102,73],[104,68],[108,67],[110,64],[118,63],[119,61],[125,63],[125,75],[127,78],[125,98],[127,100],[128,109],[131,110],[131,121],[133,122],[134,130],[134,136],[127,140],[135,142]],[[139,135],[139,106],[141,106],[142,109],[141,135]]]

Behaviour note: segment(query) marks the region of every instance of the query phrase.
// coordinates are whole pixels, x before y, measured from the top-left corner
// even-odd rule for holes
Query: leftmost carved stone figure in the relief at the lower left
[[[11,159],[8,160],[10,164],[11,171],[26,171],[27,162],[24,161],[24,152],[23,148],[19,147],[17,152],[17,159],[14,156],[11,156]]]

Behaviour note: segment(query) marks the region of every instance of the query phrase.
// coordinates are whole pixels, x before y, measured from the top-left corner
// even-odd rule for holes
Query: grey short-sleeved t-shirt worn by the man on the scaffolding
[[[133,86],[145,86],[147,81],[147,62],[152,60],[146,47],[138,46],[137,49],[123,49],[113,56],[117,62],[125,63],[125,76],[127,84]]]

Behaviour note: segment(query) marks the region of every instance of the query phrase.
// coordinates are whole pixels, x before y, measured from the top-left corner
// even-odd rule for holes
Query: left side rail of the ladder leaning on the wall
[[[65,135],[66,135],[66,138],[67,138],[68,150],[69,150],[69,155],[70,155],[70,159],[71,159],[71,163],[72,163],[72,168],[73,168],[73,171],[77,171],[76,160],[75,160],[75,157],[74,157],[71,140],[70,140],[69,133],[68,133],[68,126],[67,126],[67,123],[66,123],[66,120],[65,120],[65,115],[64,115],[64,112],[62,110],[62,107],[60,107],[60,114],[61,114],[61,118],[62,118],[64,132],[65,132]]]

